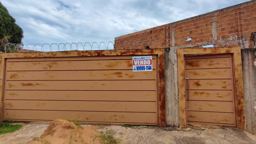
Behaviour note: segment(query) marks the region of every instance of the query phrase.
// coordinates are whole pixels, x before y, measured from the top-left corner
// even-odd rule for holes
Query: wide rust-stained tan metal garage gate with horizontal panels
[[[158,96],[158,55],[152,55],[153,71],[144,72],[132,71],[131,55],[5,61],[4,120],[65,118],[146,125],[160,121],[165,127],[165,115],[160,119],[158,109],[164,100]]]

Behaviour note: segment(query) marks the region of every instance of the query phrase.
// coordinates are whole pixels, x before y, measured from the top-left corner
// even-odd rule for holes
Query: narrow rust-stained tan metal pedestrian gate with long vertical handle
[[[231,54],[185,57],[187,123],[236,126]]]

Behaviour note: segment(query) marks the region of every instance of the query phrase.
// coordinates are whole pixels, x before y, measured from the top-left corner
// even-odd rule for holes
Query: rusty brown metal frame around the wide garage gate
[[[49,57],[85,57],[85,56],[143,56],[156,55],[158,58],[157,99],[158,115],[157,126],[166,127],[165,122],[165,81],[164,81],[164,49],[125,49],[125,50],[95,50],[95,51],[60,51],[35,53],[1,53],[0,54],[0,122],[4,120],[4,82],[7,58],[49,58]],[[2,81],[2,82],[1,82]]]

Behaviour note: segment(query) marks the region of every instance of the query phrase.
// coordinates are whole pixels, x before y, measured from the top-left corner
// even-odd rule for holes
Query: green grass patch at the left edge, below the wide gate
[[[0,135],[15,132],[22,127],[20,124],[12,125],[12,123],[14,123],[14,121],[0,123]]]

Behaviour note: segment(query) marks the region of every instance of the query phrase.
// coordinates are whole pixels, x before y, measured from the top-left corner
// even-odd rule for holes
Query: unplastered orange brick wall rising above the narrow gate
[[[237,15],[235,11],[237,11]],[[242,33],[239,23],[240,17]],[[252,32],[256,32],[256,1],[241,3],[116,37],[115,45],[116,49],[143,49],[147,46],[150,46],[150,48],[202,47],[202,45],[208,44],[214,44],[215,47],[238,46],[238,40],[234,42],[236,36],[239,35],[241,39],[241,34],[243,34],[246,43],[244,48],[250,48],[251,45],[248,43]],[[186,42],[188,37],[192,38],[192,40]],[[227,44],[227,42],[230,43]]]

